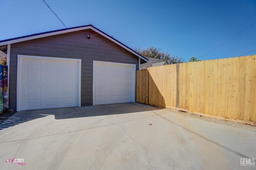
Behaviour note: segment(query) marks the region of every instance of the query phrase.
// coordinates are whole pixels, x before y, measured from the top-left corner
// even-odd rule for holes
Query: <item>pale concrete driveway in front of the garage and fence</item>
[[[22,111],[0,129],[1,170],[256,169],[254,126],[139,103]]]

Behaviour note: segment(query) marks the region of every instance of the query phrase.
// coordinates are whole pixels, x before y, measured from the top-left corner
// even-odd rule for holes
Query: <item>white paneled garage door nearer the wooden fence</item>
[[[94,105],[135,102],[135,67],[94,61]]]

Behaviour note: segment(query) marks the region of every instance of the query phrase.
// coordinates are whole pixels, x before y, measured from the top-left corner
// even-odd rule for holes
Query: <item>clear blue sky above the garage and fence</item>
[[[256,0],[45,0],[68,27],[92,24],[130,48],[187,62],[256,21]],[[65,28],[42,0],[0,0],[0,40]],[[254,50],[253,52],[250,52]],[[200,60],[256,54],[256,23]]]

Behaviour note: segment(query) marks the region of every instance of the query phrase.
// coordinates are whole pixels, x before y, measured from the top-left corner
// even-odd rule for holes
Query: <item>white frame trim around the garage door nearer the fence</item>
[[[104,63],[104,64],[118,64],[118,65],[126,65],[133,66],[133,79],[132,79],[132,102],[136,101],[136,64],[127,64],[127,63],[119,63],[119,62],[104,62],[104,61],[93,61],[93,71],[92,71],[92,105],[95,106],[95,64],[96,63]]]

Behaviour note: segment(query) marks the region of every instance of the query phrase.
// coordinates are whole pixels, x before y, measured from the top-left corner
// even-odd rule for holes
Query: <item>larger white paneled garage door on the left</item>
[[[20,109],[79,106],[79,61],[22,58]]]

